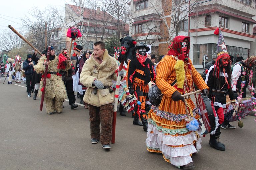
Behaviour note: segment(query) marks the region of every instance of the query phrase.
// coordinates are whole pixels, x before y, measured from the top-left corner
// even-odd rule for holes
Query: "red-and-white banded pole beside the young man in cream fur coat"
[[[123,70],[124,61],[120,62],[119,71]],[[112,119],[112,139],[111,143],[115,143],[115,134],[116,134],[116,112],[118,105],[118,96],[119,96],[119,88],[120,88],[121,76],[118,73],[116,80],[116,91],[115,91],[115,100],[114,100],[114,109],[113,109],[113,119]]]

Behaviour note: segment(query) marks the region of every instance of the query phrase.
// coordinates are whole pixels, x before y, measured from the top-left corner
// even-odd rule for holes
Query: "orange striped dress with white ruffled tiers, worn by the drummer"
[[[200,148],[201,139],[197,132],[188,131],[184,119],[187,118],[185,104],[181,100],[175,102],[172,100],[172,94],[179,88],[171,86],[176,79],[174,65],[177,58],[166,55],[157,65],[156,85],[161,90],[163,96],[161,104],[152,108],[148,113],[148,133],[147,133],[147,150],[150,152],[162,153],[167,162],[175,166],[183,166],[192,162],[192,153],[197,152]],[[195,70],[191,60],[189,63],[192,67],[188,69],[185,64],[185,93],[194,90],[193,83],[202,89],[208,89],[201,75]],[[184,91],[178,90],[181,94]],[[189,98],[187,104],[195,109],[193,101]],[[193,112],[194,117],[198,120],[200,116]]]

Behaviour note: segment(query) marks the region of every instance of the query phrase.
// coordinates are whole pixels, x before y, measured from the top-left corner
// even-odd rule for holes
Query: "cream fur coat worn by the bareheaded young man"
[[[118,65],[116,60],[108,55],[108,51],[105,50],[103,54],[103,61],[99,64],[92,53],[91,58],[86,60],[81,75],[80,82],[88,87],[84,95],[84,102],[93,106],[102,106],[114,102],[114,92],[110,93],[110,89],[97,89],[97,93],[93,93],[95,86],[94,80],[99,80],[104,86],[111,86],[112,81],[116,81],[117,75],[115,71]]]

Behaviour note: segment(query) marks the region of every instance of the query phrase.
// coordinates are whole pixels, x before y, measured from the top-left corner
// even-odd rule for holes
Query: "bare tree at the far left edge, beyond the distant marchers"
[[[19,33],[22,34],[23,32],[19,30]],[[0,35],[0,49],[10,51],[12,49],[18,49],[23,44],[23,40],[17,36],[11,30],[4,30]]]

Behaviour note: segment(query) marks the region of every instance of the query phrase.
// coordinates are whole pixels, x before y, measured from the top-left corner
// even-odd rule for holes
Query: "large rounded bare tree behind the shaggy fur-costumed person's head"
[[[38,50],[44,50],[45,38],[47,38],[47,46],[54,46],[57,43],[53,35],[60,24],[56,8],[47,7],[41,10],[33,7],[22,21],[27,30],[25,37]],[[45,22],[47,22],[47,37],[45,37]]]

